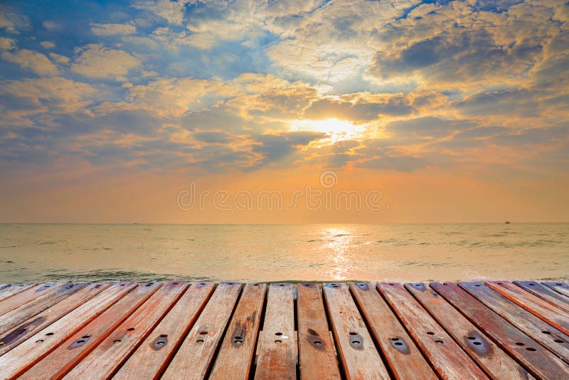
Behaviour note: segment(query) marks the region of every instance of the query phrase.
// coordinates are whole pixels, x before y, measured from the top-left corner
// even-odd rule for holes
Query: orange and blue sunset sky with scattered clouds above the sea
[[[569,221],[565,1],[2,1],[0,222]]]

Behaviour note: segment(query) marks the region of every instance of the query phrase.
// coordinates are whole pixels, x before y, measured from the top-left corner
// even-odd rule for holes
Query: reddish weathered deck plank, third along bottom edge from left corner
[[[187,283],[178,281],[165,283],[65,375],[64,379],[85,379],[87,377],[110,379],[139,343],[160,322],[186,287],[188,287]]]

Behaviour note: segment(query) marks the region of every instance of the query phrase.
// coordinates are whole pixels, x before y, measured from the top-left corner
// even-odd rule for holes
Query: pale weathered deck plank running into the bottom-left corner
[[[36,364],[36,361],[55,349],[60,342],[75,334],[136,286],[134,283],[112,285],[73,312],[6,352],[0,357],[1,375],[4,378],[16,378],[18,374]]]

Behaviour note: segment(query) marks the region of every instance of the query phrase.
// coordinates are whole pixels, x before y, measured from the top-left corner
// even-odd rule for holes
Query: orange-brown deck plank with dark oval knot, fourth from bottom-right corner
[[[353,283],[350,290],[396,379],[438,379],[376,287]]]

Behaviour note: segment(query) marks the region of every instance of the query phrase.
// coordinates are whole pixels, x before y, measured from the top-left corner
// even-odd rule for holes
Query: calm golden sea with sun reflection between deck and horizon
[[[569,223],[0,224],[0,283],[569,280]]]

